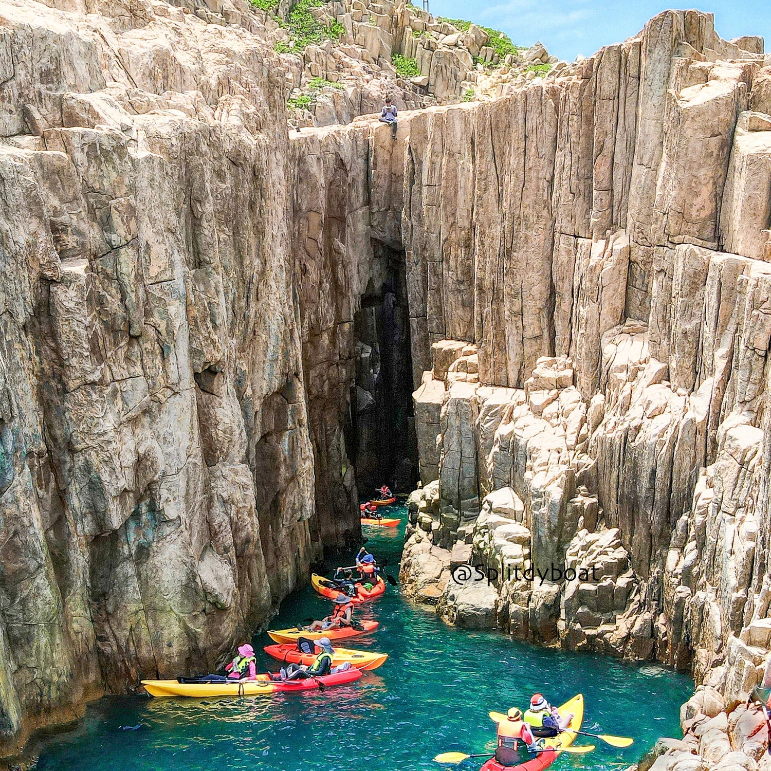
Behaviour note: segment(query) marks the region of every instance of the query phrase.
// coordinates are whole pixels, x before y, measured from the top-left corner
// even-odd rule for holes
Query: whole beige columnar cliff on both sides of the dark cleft
[[[358,532],[382,423],[394,478],[419,448],[419,596],[732,705],[771,629],[761,42],[666,12],[392,140],[288,133],[322,55],[284,35],[240,0],[0,8],[5,752],[264,623]]]

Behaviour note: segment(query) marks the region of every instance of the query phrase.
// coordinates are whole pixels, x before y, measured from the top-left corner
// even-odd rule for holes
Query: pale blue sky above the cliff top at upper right
[[[412,2],[420,7],[421,0]],[[540,40],[567,61],[635,35],[666,8],[683,7],[692,6],[658,0],[429,0],[434,15],[502,29],[517,45]],[[715,29],[722,38],[763,35],[766,51],[771,51],[769,0],[699,0],[696,7],[715,14]]]

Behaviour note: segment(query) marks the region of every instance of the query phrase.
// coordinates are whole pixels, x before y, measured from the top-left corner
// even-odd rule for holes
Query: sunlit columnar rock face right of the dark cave
[[[439,480],[411,504],[416,596],[465,624],[451,569],[478,562],[503,576],[485,623],[699,681],[725,666],[729,706],[769,647],[765,63],[668,12],[571,76],[412,118],[406,153],[416,416]],[[465,345],[478,382],[443,363]],[[502,490],[521,543],[490,536]],[[504,569],[553,561],[604,568]]]

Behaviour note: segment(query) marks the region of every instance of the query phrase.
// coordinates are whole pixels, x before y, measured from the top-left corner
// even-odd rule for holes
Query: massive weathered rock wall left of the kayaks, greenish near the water
[[[244,29],[109,10],[2,9],[6,750],[214,666],[311,554],[283,76]]]

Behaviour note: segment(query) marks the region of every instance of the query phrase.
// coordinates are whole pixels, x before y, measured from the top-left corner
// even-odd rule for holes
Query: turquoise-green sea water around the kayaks
[[[386,514],[388,511],[388,514]],[[368,547],[388,557],[398,575],[403,507],[382,509],[402,516],[402,527],[367,528]],[[393,513],[392,513],[393,512]],[[398,512],[398,513],[396,513]],[[374,534],[372,531],[375,530]],[[350,563],[350,556],[346,557]],[[311,588],[281,606],[271,628],[284,628],[328,612],[328,602]],[[586,700],[584,729],[634,736],[623,751],[594,740],[587,756],[561,756],[552,766],[624,769],[658,736],[680,736],[679,708],[692,681],[658,665],[635,666],[593,655],[534,648],[496,632],[449,628],[389,587],[385,596],[359,611],[375,618],[374,635],[348,647],[389,653],[375,672],[325,694],[274,695],[255,699],[101,699],[76,728],[58,734],[43,749],[45,771],[337,771],[364,769],[478,769],[476,760],[439,766],[438,752],[485,752],[495,746],[491,709],[524,709],[530,695],[544,692],[561,704],[577,692]],[[278,667],[264,654],[268,635],[257,635],[258,665]],[[124,729],[124,726],[140,726]],[[580,742],[593,741],[582,738]]]

